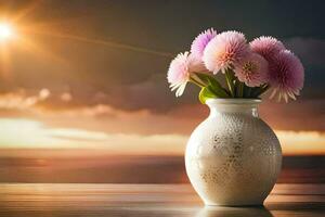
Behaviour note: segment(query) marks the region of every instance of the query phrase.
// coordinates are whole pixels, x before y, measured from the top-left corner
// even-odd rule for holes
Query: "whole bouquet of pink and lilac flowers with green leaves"
[[[222,73],[226,88],[213,75]],[[191,52],[171,61],[168,76],[176,95],[183,94],[187,82],[200,87],[199,100],[210,98],[260,98],[271,89],[270,98],[296,99],[303,87],[304,69],[300,60],[273,37],[259,37],[247,43],[244,34],[212,28],[199,34]]]

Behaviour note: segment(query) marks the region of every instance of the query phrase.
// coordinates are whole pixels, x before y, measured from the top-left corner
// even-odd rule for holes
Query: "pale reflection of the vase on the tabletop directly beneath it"
[[[225,206],[206,206],[202,208],[196,217],[272,217],[273,215],[264,207],[225,207]]]

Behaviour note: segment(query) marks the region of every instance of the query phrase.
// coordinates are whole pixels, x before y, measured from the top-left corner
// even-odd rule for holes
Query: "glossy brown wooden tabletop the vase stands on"
[[[325,184],[276,184],[264,207],[204,206],[190,184],[0,183],[0,216],[325,216]]]

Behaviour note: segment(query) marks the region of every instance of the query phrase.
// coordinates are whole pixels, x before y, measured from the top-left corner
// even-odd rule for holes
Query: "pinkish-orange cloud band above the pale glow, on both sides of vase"
[[[134,88],[132,86],[133,91],[130,91],[132,102],[127,105],[128,108],[109,104],[105,100],[107,94],[102,92],[91,97],[90,102],[83,102],[68,91],[55,92],[41,89],[28,93],[21,89],[0,94],[0,115],[34,118],[58,128],[81,126],[90,130],[105,129],[107,132],[143,135],[171,132],[188,135],[208,116],[209,110],[206,105],[191,104],[186,99],[184,101],[177,99],[180,102],[172,105],[172,101],[168,103],[168,98],[174,98],[173,95],[160,98],[151,94],[154,85],[152,81],[148,84],[143,87],[142,84]],[[141,98],[142,94],[136,90],[147,94]],[[68,98],[62,99],[62,95]],[[136,108],[136,103],[143,105]],[[154,108],[155,106],[160,107],[161,111]],[[260,105],[260,114],[272,128],[277,130],[325,131],[325,123],[322,122],[325,118],[324,106],[323,99],[309,99],[304,95],[287,104],[265,99]]]

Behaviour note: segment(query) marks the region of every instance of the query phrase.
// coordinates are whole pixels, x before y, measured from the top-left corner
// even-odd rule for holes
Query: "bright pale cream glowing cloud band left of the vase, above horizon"
[[[1,149],[92,149],[110,154],[180,154],[179,135],[107,133],[80,128],[50,128],[30,119],[0,118]],[[17,137],[18,135],[18,137]]]

